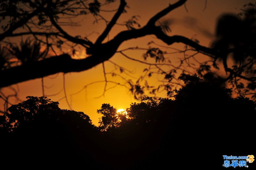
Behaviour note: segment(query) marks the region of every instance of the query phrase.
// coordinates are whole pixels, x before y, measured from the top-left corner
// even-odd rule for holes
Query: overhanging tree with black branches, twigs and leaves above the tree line
[[[12,84],[23,81],[42,78],[55,73],[81,72],[88,70],[102,63],[104,69],[103,82],[122,85],[118,82],[109,81],[106,78],[104,62],[116,53],[123,55],[126,58],[137,62],[145,63],[149,68],[145,68],[145,73],[150,77],[152,74],[164,74],[163,80],[165,85],[153,87],[145,83],[140,84],[140,78],[136,83],[126,80],[127,87],[135,98],[140,98],[144,95],[144,90],[150,90],[154,94],[160,87],[166,91],[171,90],[177,83],[177,74],[188,74],[188,71],[183,69],[190,58],[194,58],[197,54],[203,54],[206,57],[205,61],[199,62],[196,68],[197,74],[201,77],[220,78],[220,83],[229,82],[234,86],[234,91],[241,95],[251,95],[255,97],[255,4],[248,3],[245,5],[242,13],[235,15],[222,15],[219,17],[216,28],[216,40],[211,47],[200,45],[199,40],[190,39],[182,35],[170,35],[168,23],[158,23],[159,19],[170,13],[172,10],[185,4],[186,0],[179,0],[174,4],[169,4],[165,9],[162,9],[153,15],[146,25],[141,26],[138,23],[138,17],[132,16],[130,20],[118,23],[119,17],[127,12],[128,8],[125,0],[120,0],[118,9],[114,10],[110,21],[106,20],[101,15],[101,11],[113,12],[112,10],[103,10],[103,6],[108,6],[116,1],[107,0],[101,2],[80,1],[80,0],[56,0],[56,1],[1,1],[0,3],[0,22],[2,32],[0,40],[2,43],[0,51],[0,87],[6,87]],[[84,15],[92,15],[95,17],[95,22],[103,20],[106,22],[106,28],[99,34],[97,39],[92,42],[88,37],[80,35],[72,36],[63,28],[66,25],[78,24],[67,21],[65,18],[79,17]],[[112,39],[108,39],[108,34],[115,25],[122,25],[127,28],[126,31],[118,32]],[[131,47],[128,49],[118,50],[120,44],[127,40],[144,37],[146,35],[154,35],[162,40],[167,45],[174,43],[183,43],[184,50],[178,50],[176,53],[184,53],[184,59],[180,61],[178,66],[168,63],[165,59],[166,52],[161,50],[159,46],[149,46],[148,49],[139,47]],[[10,37],[31,36],[33,40],[27,39],[21,41],[20,46],[7,41]],[[3,45],[4,44],[4,45]],[[155,45],[154,42],[149,42],[149,45]],[[62,47],[68,46],[70,54],[62,52],[57,54],[56,49],[62,51]],[[87,57],[83,59],[74,59],[72,55],[77,51],[77,47],[86,49]],[[4,47],[7,50],[3,50]],[[39,49],[42,49],[41,51]],[[131,58],[125,54],[127,50],[141,49],[146,52],[143,54],[144,61]],[[12,55],[5,53],[10,51]],[[53,52],[55,55],[46,56],[47,52]],[[195,54],[187,55],[186,52],[194,51]],[[228,58],[232,56],[236,64],[229,66]],[[210,60],[209,58],[210,57]],[[154,58],[155,63],[148,63],[147,58]],[[16,59],[16,60],[13,60]],[[226,77],[220,77],[214,74],[219,68],[219,61],[223,64]],[[110,61],[112,62],[112,61]],[[113,62],[112,62],[113,63]],[[126,70],[122,66],[118,66],[120,72]],[[159,66],[170,66],[172,69],[164,70]],[[154,72],[151,66],[155,66],[158,71]],[[215,69],[215,70],[214,70]],[[110,73],[109,73],[110,74]],[[117,75],[116,73],[111,73]],[[245,85],[247,83],[247,85]],[[104,92],[107,90],[106,85]],[[104,93],[103,93],[104,95]],[[3,96],[4,100],[7,100]]]

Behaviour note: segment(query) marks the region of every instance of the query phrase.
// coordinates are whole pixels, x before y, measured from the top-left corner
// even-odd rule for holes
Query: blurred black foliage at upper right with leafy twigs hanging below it
[[[216,27],[217,39],[212,48],[219,52],[215,61],[222,61],[225,71],[230,73],[228,82],[235,87],[233,90],[240,95],[249,94],[255,99],[256,4],[245,4],[241,10],[242,13],[237,16],[224,14],[219,17]],[[227,64],[230,57],[236,63],[231,67]],[[213,66],[216,67],[216,62]],[[247,81],[239,82],[241,79]],[[247,85],[244,85],[245,82]]]

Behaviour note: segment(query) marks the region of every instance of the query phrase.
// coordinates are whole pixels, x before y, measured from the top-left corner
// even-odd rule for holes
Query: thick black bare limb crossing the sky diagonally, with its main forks
[[[178,1],[173,5],[170,5],[168,8],[160,11],[158,14],[153,16],[148,23],[155,22],[156,20],[166,15],[171,10],[184,4],[184,2],[185,0],[182,0],[182,1]],[[124,1],[122,4],[122,7],[123,5],[125,5]],[[122,11],[120,10],[120,12]],[[113,17],[112,19],[113,23],[118,19],[119,15],[120,14],[118,13]],[[91,54],[91,56],[85,59],[75,60],[75,59],[72,59],[69,55],[63,54],[60,56],[46,58],[41,61],[25,63],[20,66],[2,70],[0,71],[0,79],[1,79],[0,87],[9,86],[11,84],[20,83],[22,81],[27,81],[35,78],[45,77],[45,76],[56,74],[59,72],[68,73],[68,72],[85,71],[111,58],[115,54],[120,44],[123,43],[124,41],[138,38],[138,37],[143,37],[150,34],[156,35],[156,37],[163,40],[165,43],[169,45],[175,42],[182,42],[184,44],[187,44],[195,48],[197,51],[202,51],[210,55],[216,54],[216,51],[206,48],[204,46],[201,46],[196,42],[188,38],[185,38],[183,36],[167,36],[162,32],[160,27],[157,27],[154,24],[147,24],[141,29],[134,29],[134,30],[120,32],[119,34],[117,34],[117,36],[115,36],[112,40],[110,40],[107,43],[92,45],[91,42],[78,39],[67,34],[56,23],[53,16],[50,17],[50,20],[66,39],[78,44],[86,44],[90,46],[90,48],[87,49],[87,54]],[[113,26],[112,24],[110,24],[109,27],[107,27],[109,30]],[[105,34],[104,32],[103,34]],[[108,31],[106,31],[106,33],[108,33]]]

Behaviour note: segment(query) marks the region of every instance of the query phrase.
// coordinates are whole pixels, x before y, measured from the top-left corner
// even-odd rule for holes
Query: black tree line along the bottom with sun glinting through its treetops
[[[82,166],[85,169],[222,167],[222,155],[255,153],[255,103],[196,76],[168,92],[145,97],[117,119],[102,104],[100,126],[82,112],[63,110],[46,97],[8,108],[0,117],[2,165]],[[121,121],[120,121],[121,120]],[[253,168],[253,165],[249,165]]]

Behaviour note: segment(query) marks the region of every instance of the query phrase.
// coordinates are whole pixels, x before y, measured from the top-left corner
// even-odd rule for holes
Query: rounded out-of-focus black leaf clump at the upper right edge
[[[242,13],[240,13],[242,14]],[[225,14],[219,17],[216,28],[218,40],[215,49],[223,56],[232,54],[237,62],[244,62],[247,58],[255,58],[255,6],[244,10],[243,15]]]

